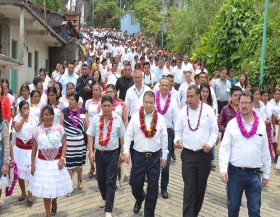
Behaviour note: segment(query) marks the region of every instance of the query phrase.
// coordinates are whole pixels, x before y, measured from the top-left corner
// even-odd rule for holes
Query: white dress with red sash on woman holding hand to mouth
[[[21,114],[18,113],[14,118],[14,122],[19,123],[22,118]],[[23,180],[30,179],[32,137],[33,130],[38,123],[38,118],[29,114],[27,122],[24,121],[22,128],[15,134],[14,161],[18,164],[19,178]]]

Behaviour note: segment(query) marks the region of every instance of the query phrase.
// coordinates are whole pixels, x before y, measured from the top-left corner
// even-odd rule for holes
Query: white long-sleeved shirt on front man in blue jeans
[[[247,131],[251,130],[253,122],[247,124],[242,119],[242,123]],[[256,134],[249,139],[241,134],[236,118],[228,122],[219,150],[220,173],[227,172],[229,163],[235,167],[262,167],[263,178],[269,178],[271,159],[266,127],[261,119]]]

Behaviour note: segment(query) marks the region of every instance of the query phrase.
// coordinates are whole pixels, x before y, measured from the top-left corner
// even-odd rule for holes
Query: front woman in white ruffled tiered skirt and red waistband
[[[33,195],[43,197],[47,217],[56,214],[57,197],[73,190],[70,175],[64,167],[65,131],[63,126],[54,122],[54,115],[53,107],[45,105],[40,118],[42,124],[33,132],[32,176],[28,186]]]

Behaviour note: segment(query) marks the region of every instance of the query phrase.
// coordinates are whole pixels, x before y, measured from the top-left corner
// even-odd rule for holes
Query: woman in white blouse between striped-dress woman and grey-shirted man
[[[99,84],[94,84],[92,87],[92,99],[86,101],[85,109],[88,112],[89,124],[93,117],[99,112],[101,106],[101,87]],[[88,177],[92,178],[95,171],[94,164],[91,164]]]

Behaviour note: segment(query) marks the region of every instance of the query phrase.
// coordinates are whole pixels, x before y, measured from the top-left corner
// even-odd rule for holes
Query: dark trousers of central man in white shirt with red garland
[[[154,217],[158,198],[158,180],[160,174],[160,152],[152,157],[145,157],[139,152],[134,151],[131,156],[132,167],[130,172],[129,184],[132,188],[132,194],[138,204],[145,199],[144,179],[145,174],[148,177],[148,187],[145,199],[145,217]]]

